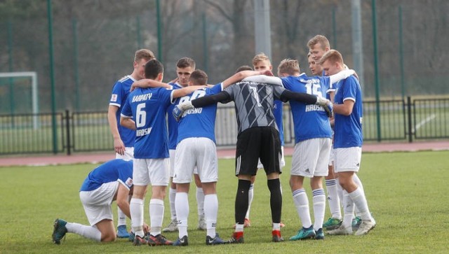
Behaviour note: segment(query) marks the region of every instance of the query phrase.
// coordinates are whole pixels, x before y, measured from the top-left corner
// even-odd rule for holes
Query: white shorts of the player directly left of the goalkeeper
[[[201,183],[218,181],[218,160],[215,143],[207,138],[183,139],[176,147],[173,183],[190,183],[194,168]]]

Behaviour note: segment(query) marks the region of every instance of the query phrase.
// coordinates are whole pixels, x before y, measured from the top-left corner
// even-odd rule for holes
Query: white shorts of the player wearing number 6
[[[167,186],[170,179],[170,159],[134,159],[134,185]]]

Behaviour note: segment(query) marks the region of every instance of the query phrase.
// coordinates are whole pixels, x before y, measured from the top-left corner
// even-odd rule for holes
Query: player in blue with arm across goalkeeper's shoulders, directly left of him
[[[259,74],[256,71],[245,71],[252,75]],[[206,85],[207,75],[204,71],[195,70],[190,76],[189,85]],[[220,84],[203,90],[196,90],[192,94],[179,99],[182,103],[192,99],[204,97],[209,94],[221,92],[223,88],[240,81],[241,73],[236,73]],[[194,108],[185,111],[180,118],[177,138],[177,153],[175,159],[176,183],[176,214],[178,219],[179,239],[175,246],[187,246],[187,218],[189,216],[189,185],[192,181],[192,173],[196,166],[201,185],[203,186],[204,212],[206,216],[206,244],[227,244],[220,239],[215,231],[217,225],[218,199],[216,185],[218,180],[217,152],[215,147],[215,115],[217,104],[210,104],[203,108]]]

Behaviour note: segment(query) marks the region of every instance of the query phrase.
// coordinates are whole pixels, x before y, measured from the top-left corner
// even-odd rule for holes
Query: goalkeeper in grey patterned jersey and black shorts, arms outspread
[[[238,124],[236,145],[236,171],[239,178],[236,192],[236,227],[230,244],[243,243],[243,225],[248,210],[250,178],[257,173],[260,159],[267,174],[267,185],[271,192],[272,241],[283,241],[281,237],[282,193],[279,182],[281,174],[281,141],[273,115],[274,99],[287,101],[297,99],[307,104],[319,103],[328,106],[330,101],[310,94],[300,94],[285,90],[280,85],[267,85],[243,81],[227,87],[224,91],[177,105],[174,115],[181,115],[190,108],[201,108],[217,101],[234,101]],[[330,110],[330,108],[328,108]]]

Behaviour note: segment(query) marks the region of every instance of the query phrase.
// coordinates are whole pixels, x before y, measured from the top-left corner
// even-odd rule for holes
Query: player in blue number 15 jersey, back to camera
[[[308,77],[300,74],[297,60],[283,59],[278,66],[278,75],[282,78],[267,77],[259,80],[265,83],[283,85],[293,92],[326,97],[331,83],[347,78],[354,71],[343,71],[331,77]],[[257,77],[259,78],[259,77]],[[273,80],[273,81],[269,81]],[[323,190],[323,176],[328,174],[328,157],[332,130],[324,108],[290,101],[295,126],[295,150],[290,172],[290,188],[302,228],[290,240],[324,239],[323,220],[326,208],[326,196]],[[314,225],[309,213],[309,200],[304,190],[304,177],[311,178],[310,185],[314,204]]]

